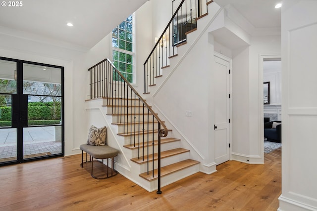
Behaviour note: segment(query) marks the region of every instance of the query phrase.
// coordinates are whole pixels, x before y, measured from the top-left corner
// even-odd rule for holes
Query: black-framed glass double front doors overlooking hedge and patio
[[[62,67],[0,60],[0,165],[64,155],[62,79]]]

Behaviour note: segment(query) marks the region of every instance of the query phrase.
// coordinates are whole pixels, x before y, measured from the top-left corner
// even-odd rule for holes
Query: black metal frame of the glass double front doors
[[[57,65],[52,65],[52,64],[44,64],[44,63],[39,63],[39,62],[32,62],[32,61],[26,61],[26,60],[20,60],[20,59],[13,59],[13,58],[7,58],[7,57],[2,57],[0,56],[0,60],[6,60],[6,61],[12,61],[16,62],[16,81],[17,81],[17,92],[15,93],[16,95],[16,103],[17,105],[13,105],[15,108],[18,109],[17,113],[19,117],[21,116],[21,110],[27,107],[27,101],[23,101],[23,98],[26,96],[23,94],[23,88],[20,87],[22,82],[23,82],[23,64],[33,64],[33,65],[39,65],[39,66],[47,66],[47,67],[53,67],[53,68],[59,68],[61,69],[61,153],[59,154],[53,154],[53,155],[48,155],[44,157],[35,157],[35,158],[27,158],[23,159],[23,124],[21,121],[17,121],[17,126],[12,127],[13,125],[11,124],[10,128],[16,128],[17,130],[17,140],[16,140],[16,147],[17,147],[17,160],[16,161],[7,161],[0,163],[0,166],[7,166],[7,165],[12,165],[12,164],[19,164],[19,163],[26,163],[30,161],[37,161],[37,160],[43,160],[43,159],[49,159],[49,158],[56,158],[56,157],[63,157],[65,154],[65,142],[64,142],[64,125],[65,125],[65,109],[64,109],[64,103],[65,103],[65,97],[64,97],[64,67],[62,66],[57,66]],[[13,100],[13,98],[12,98]],[[26,103],[26,104],[25,104]],[[13,109],[13,107],[12,107]],[[12,111],[13,112],[13,111]],[[12,114],[12,119],[13,119],[13,114]],[[14,120],[11,120],[12,123]],[[23,121],[22,121],[23,122]],[[53,126],[53,125],[52,125]]]

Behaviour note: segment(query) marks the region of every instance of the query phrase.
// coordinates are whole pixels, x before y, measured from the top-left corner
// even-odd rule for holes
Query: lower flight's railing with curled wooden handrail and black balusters
[[[155,134],[158,134],[158,191],[160,191],[160,138],[167,136],[167,127],[159,119],[158,115],[146,103],[141,95],[114,67],[108,59],[105,59],[89,68],[90,99],[105,98],[108,107],[111,107],[111,115],[115,116],[115,122],[123,126],[123,133],[130,140],[130,145],[138,148],[138,159],[147,162],[147,171],[155,169],[155,158],[152,160],[149,149],[155,152]],[[145,129],[146,128],[146,129]],[[145,131],[147,130],[147,131]],[[126,143],[125,143],[126,144]],[[144,148],[147,148],[147,152]],[[152,167],[149,165],[152,161]]]

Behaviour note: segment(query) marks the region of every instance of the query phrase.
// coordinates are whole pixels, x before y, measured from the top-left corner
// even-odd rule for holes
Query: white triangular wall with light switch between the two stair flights
[[[182,142],[195,146],[206,163],[214,160],[209,156],[213,140],[208,135],[213,129],[209,125],[212,122],[209,117],[213,116],[213,110],[209,113],[209,98],[212,99],[209,93],[213,92],[210,86],[212,59],[213,47],[205,33],[154,97],[156,106],[184,137]],[[186,116],[186,111],[191,111],[192,116]]]

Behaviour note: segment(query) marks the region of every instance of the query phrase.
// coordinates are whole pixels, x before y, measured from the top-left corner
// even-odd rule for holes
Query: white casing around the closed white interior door
[[[229,98],[229,119],[230,119],[230,123],[229,125],[229,161],[232,160],[232,59],[220,54],[216,51],[213,51],[213,56],[218,57],[219,59],[222,59],[226,62],[229,63],[229,68],[230,68],[230,74],[229,74],[229,93],[230,93],[230,98]],[[215,62],[215,61],[213,61]],[[213,121],[214,122],[214,121]],[[216,164],[218,165],[218,164]]]

